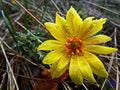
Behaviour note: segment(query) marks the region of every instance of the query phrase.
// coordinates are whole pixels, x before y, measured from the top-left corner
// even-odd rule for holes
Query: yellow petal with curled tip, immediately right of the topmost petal
[[[88,17],[83,21],[83,25],[82,25],[82,27],[80,29],[80,33],[79,33],[80,38],[84,38],[84,36],[89,32],[89,30],[90,30],[89,28],[92,24],[93,18],[94,17]]]

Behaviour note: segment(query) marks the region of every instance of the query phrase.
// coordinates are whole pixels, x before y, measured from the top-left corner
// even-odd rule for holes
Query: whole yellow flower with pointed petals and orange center
[[[82,84],[83,79],[95,82],[93,73],[108,77],[103,63],[95,54],[110,54],[116,48],[101,46],[111,40],[106,35],[95,35],[103,28],[105,18],[82,20],[73,7],[67,12],[66,19],[56,13],[55,23],[45,23],[46,29],[56,40],[47,40],[38,46],[38,50],[51,50],[43,60],[52,64],[52,78],[59,78],[69,70],[71,80]]]

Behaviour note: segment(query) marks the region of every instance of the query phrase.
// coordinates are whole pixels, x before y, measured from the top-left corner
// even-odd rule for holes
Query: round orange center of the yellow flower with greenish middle
[[[80,40],[76,36],[67,39],[67,42],[65,43],[65,50],[70,56],[75,54],[82,55],[84,49],[85,47],[83,45],[82,40]]]

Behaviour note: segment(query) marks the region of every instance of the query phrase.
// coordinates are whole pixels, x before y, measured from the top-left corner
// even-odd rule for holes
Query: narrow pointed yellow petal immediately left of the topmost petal
[[[71,34],[70,27],[68,27],[66,20],[58,13],[56,13],[56,27],[63,34],[63,38],[69,37],[69,35]]]

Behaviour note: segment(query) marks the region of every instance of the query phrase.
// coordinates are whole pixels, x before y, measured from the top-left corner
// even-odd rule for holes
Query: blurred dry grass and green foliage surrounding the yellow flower
[[[15,2],[17,1],[17,2]],[[0,90],[120,90],[120,51],[99,55],[109,77],[97,83],[75,85],[69,78],[57,83],[44,78],[43,57],[37,47],[51,35],[42,26],[54,22],[56,12],[65,17],[73,6],[81,18],[107,18],[101,32],[112,37],[106,45],[120,49],[120,0],[0,0]],[[32,16],[32,15],[33,16]],[[35,19],[35,18],[37,19]],[[50,87],[55,83],[57,88]],[[42,84],[41,84],[42,83]],[[53,86],[55,86],[53,85]]]

